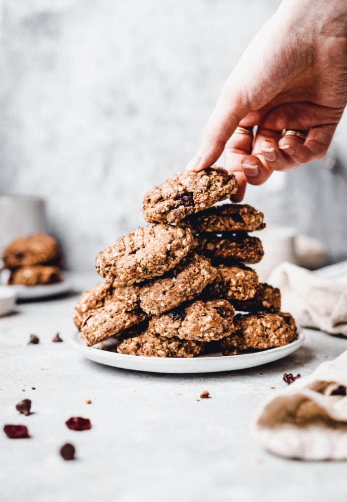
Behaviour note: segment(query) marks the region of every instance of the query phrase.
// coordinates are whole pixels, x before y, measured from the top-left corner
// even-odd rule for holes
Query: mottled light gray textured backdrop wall
[[[68,268],[90,269],[99,249],[144,224],[143,194],[184,168],[223,81],[279,3],[5,0],[0,193],[47,200]],[[338,162],[277,173],[245,199],[267,222],[327,242],[331,260],[347,257],[346,129]]]

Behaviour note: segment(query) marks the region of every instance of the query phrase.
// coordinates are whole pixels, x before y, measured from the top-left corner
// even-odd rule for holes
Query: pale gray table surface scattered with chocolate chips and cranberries
[[[74,276],[75,293],[21,303],[0,319],[1,429],[24,424],[31,435],[11,440],[0,431],[2,502],[345,502],[345,462],[276,457],[256,443],[251,424],[264,400],[286,387],[283,372],[310,373],[346,350],[347,339],[305,329],[293,354],[234,372],[105,366],[69,341],[78,296],[97,281]],[[63,343],[52,342],[57,332]],[[32,333],[39,344],[28,345]],[[211,399],[199,400],[204,390]],[[28,417],[15,409],[24,398],[32,400]],[[72,416],[89,418],[92,429],[68,430]],[[65,442],[75,445],[73,461],[59,455]]]

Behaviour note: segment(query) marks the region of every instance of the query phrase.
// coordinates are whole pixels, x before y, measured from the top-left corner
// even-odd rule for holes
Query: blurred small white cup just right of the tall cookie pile
[[[259,276],[260,282],[266,282],[272,270],[283,262],[297,263],[295,255],[295,239],[297,230],[292,227],[268,225],[264,230],[252,232],[263,244],[262,260],[251,265]]]

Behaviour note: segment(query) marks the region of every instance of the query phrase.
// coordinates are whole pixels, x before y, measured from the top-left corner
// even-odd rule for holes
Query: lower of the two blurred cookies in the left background
[[[38,284],[55,284],[63,280],[59,267],[52,265],[27,265],[12,270],[8,284],[37,286]]]

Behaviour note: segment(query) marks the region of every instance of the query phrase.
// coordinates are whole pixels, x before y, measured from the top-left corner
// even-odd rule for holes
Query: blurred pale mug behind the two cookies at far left
[[[0,195],[0,257],[16,237],[47,231],[45,201],[26,195]]]

